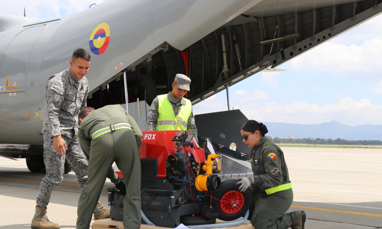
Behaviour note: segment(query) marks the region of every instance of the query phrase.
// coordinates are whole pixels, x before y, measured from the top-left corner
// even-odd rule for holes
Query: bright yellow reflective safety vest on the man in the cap
[[[191,101],[183,98],[186,104],[182,105],[175,118],[173,107],[167,96],[168,94],[157,96],[159,116],[155,130],[187,130],[187,121],[192,112]]]

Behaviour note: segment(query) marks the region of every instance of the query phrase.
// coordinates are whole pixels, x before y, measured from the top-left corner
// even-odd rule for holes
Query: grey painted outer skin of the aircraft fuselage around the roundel
[[[92,56],[86,75],[92,91],[161,44],[182,50],[258,2],[114,0],[65,17],[8,23],[0,33],[0,86],[16,89],[5,85],[9,76],[17,90],[0,92],[0,143],[42,145],[46,80],[69,67],[74,49],[85,48]],[[89,38],[103,22],[110,26],[110,42],[95,55]]]

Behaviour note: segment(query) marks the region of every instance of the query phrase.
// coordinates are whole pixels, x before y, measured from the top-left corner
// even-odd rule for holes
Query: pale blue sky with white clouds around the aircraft
[[[3,1],[0,14],[52,18],[104,0]],[[263,122],[382,124],[382,16],[230,87],[230,105]],[[226,91],[194,105],[196,114],[227,110]]]

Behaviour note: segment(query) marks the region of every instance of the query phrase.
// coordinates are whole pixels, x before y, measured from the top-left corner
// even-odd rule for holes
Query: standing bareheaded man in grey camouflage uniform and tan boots
[[[32,229],[60,228],[46,216],[50,194],[62,182],[65,159],[74,171],[79,188],[88,181],[88,161],[78,141],[78,112],[86,107],[90,54],[85,49],[76,49],[70,60],[70,68],[51,76],[46,83],[46,114],[42,133],[44,138],[44,163],[46,176],[37,195]],[[117,182],[117,181],[116,181]],[[97,215],[110,215],[103,205],[97,205]]]

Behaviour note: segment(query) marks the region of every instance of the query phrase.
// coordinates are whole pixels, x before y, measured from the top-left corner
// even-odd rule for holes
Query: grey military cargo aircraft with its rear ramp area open
[[[0,15],[0,155],[43,165],[45,84],[76,48],[92,56],[88,106],[126,94],[151,104],[177,73],[192,79],[196,104],[381,11],[382,0],[111,0],[45,20]]]

